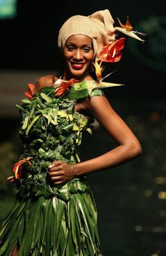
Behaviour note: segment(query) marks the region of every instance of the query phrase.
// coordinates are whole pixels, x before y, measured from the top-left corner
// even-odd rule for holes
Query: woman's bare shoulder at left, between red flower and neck
[[[57,79],[58,79],[58,77],[54,76],[54,75],[38,77],[38,79],[36,81],[36,90],[38,91],[45,86],[53,86],[54,82]]]

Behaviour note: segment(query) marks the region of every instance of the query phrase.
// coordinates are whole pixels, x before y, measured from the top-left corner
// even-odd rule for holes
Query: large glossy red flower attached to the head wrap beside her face
[[[99,54],[99,58],[105,62],[117,62],[121,60],[122,52],[124,48],[124,42],[126,38],[120,38],[119,40],[105,45]]]

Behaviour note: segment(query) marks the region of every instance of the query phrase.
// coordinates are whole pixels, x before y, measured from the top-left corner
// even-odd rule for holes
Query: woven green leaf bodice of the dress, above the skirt
[[[94,92],[94,95],[101,94],[99,90]],[[88,95],[76,91],[74,96],[67,92],[56,98],[54,87],[50,86],[42,88],[31,100],[22,100],[21,106],[17,105],[22,123],[19,134],[24,147],[21,158],[31,157],[31,164],[23,164],[22,177],[17,180],[19,196],[31,193],[47,196],[49,191],[57,191],[47,175],[47,167],[55,160],[69,164],[80,161],[77,147],[83,132],[91,133],[89,126],[93,122],[93,118],[75,111],[77,99],[85,96]]]

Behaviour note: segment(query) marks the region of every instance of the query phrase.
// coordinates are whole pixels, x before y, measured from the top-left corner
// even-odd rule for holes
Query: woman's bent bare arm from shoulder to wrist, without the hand
[[[92,97],[87,108],[118,143],[118,146],[102,156],[75,164],[76,175],[111,168],[142,153],[139,141],[128,125],[112,109],[106,97]]]

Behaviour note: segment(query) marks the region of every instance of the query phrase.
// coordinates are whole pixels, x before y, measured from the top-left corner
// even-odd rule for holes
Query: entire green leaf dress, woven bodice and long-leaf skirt
[[[17,105],[24,150],[13,176],[16,202],[0,231],[0,255],[9,256],[15,244],[18,256],[102,255],[96,205],[86,177],[57,186],[47,175],[54,160],[80,161],[77,147],[83,132],[91,132],[93,118],[74,107],[77,100],[102,95],[91,83],[75,83],[59,98],[53,86],[45,87]]]

